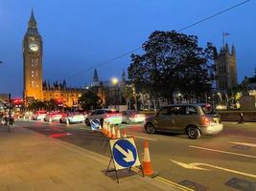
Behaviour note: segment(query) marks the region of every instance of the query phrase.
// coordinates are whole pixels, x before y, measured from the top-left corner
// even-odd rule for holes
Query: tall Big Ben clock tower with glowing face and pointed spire
[[[23,39],[24,101],[42,99],[42,38],[37,31],[34,12]]]

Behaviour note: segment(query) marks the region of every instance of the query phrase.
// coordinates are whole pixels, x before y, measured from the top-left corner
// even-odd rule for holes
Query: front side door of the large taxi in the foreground
[[[157,129],[172,131],[175,128],[174,117],[170,113],[171,107],[162,107],[156,114]]]

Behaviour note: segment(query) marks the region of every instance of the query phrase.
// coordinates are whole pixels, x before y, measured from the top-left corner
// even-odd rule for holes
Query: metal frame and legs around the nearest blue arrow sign
[[[120,139],[129,139],[129,138],[131,138],[131,137],[128,137],[128,138],[112,138],[112,139],[109,139],[109,147],[110,147],[111,158],[110,158],[110,160],[109,160],[109,162],[108,162],[108,165],[107,165],[107,168],[106,168],[106,171],[105,171],[105,176],[107,175],[108,172],[115,172],[116,180],[117,180],[118,183],[119,183],[119,179],[118,179],[117,171],[118,171],[118,170],[121,170],[121,169],[126,169],[126,168],[127,168],[129,171],[131,171],[131,167],[133,167],[133,166],[138,166],[139,169],[141,170],[142,176],[145,177],[144,172],[143,172],[143,167],[142,167],[141,161],[140,161],[140,159],[139,159],[137,147],[136,147],[136,145],[135,145],[135,142],[134,142],[134,139],[133,139],[133,138],[132,138],[132,140],[133,140],[134,145],[133,145],[133,144],[132,144],[132,145],[135,147],[136,152],[137,152],[137,159],[136,159],[136,161],[138,160],[140,164],[139,164],[139,165],[133,165],[133,164],[132,164],[131,166],[128,166],[128,167],[117,168],[116,160],[114,159],[114,155],[113,155],[113,151],[112,151],[112,148],[111,148],[110,141],[111,141],[111,140],[120,140]],[[128,140],[128,141],[129,141],[129,140]],[[129,142],[130,142],[130,141],[129,141]],[[135,161],[135,163],[136,163],[136,161]],[[114,166],[113,169],[109,169],[111,162],[113,163],[113,166]],[[117,162],[117,163],[118,163],[118,162]]]

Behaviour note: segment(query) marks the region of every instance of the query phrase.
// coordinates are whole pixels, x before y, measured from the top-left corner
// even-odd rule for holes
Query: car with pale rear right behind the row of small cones
[[[85,124],[90,126],[90,121],[92,119],[99,119],[103,125],[104,121],[110,122],[112,124],[121,124],[122,123],[122,114],[115,110],[107,109],[98,109],[92,112],[85,118]]]

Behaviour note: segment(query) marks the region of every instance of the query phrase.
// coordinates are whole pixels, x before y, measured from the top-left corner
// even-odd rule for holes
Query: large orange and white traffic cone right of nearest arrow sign
[[[147,175],[150,177],[155,177],[157,175],[157,173],[154,173],[152,171],[151,156],[150,156],[148,140],[145,140],[145,142],[144,142],[143,173],[144,173],[144,175]]]

